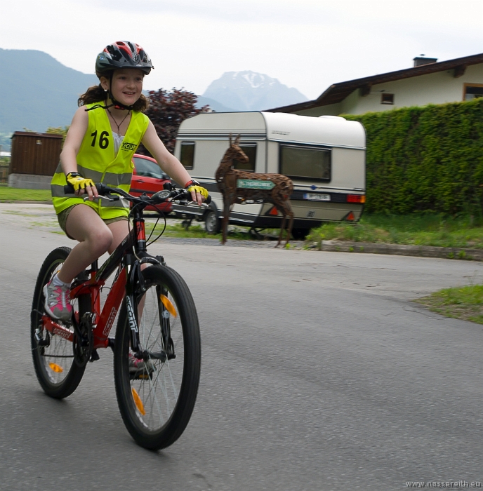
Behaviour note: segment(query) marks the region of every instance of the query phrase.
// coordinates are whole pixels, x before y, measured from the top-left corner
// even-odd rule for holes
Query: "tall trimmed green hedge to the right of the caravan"
[[[361,115],[373,213],[477,213],[483,204],[483,98]]]

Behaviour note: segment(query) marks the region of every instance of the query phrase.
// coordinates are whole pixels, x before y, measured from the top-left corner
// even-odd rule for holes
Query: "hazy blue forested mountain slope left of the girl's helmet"
[[[42,51],[0,48],[0,66],[0,133],[70,124],[77,97],[99,83]]]

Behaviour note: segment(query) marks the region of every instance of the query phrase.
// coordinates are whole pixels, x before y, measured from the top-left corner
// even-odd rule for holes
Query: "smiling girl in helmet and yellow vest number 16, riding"
[[[95,60],[99,85],[79,97],[80,107],[51,182],[60,227],[79,243],[44,287],[45,309],[52,318],[70,321],[70,283],[74,277],[105,252],[112,253],[128,235],[128,204],[103,202],[94,183],[129,191],[132,156],[140,143],[164,172],[191,192],[193,201],[201,205],[208,196],[208,191],[166,150],[142,112],[148,105],[142,94],[143,78],[152,68],[150,57],[138,44],[117,41],[106,46]],[[75,194],[65,194],[67,183],[72,184]]]

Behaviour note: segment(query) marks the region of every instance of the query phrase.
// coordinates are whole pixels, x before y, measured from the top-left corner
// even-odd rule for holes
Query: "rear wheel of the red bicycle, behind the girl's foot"
[[[57,272],[67,259],[70,248],[60,247],[54,249],[44,260],[37,283],[35,284],[34,300],[32,302],[31,315],[31,344],[32,358],[34,361],[35,374],[44,392],[53,398],[62,399],[70,396],[79,386],[86,367],[79,367],[74,361],[73,344],[59,335],[49,334],[50,345],[39,346],[37,335],[45,339],[46,330],[41,327],[41,316],[45,314],[44,308],[44,285],[51,281],[52,276]],[[81,295],[75,302],[72,302],[74,311],[76,307],[79,317],[84,312],[91,310],[91,298],[89,295]],[[76,305],[77,304],[77,305]],[[66,325],[73,332],[72,325]],[[39,332],[37,332],[39,329]]]

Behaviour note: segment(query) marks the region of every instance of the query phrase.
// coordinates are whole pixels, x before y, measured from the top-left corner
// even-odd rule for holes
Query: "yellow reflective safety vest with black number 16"
[[[87,104],[86,109],[93,105]],[[89,111],[87,114],[88,127],[76,158],[77,172],[86,179],[90,178],[94,182],[103,182],[107,186],[119,187],[129,192],[133,175],[133,154],[141,140],[143,140],[150,120],[145,114],[133,111],[124,140],[117,152],[117,156],[114,156],[114,138],[112,137],[112,129],[105,109],[99,107]],[[74,194],[65,194],[65,184],[67,184],[67,179],[59,163],[51,181],[52,202],[55,213],[60,213],[70,206],[84,203],[91,206],[101,218],[107,219],[128,215],[129,203],[124,200],[113,202],[104,199],[84,201],[83,197],[79,198]]]

